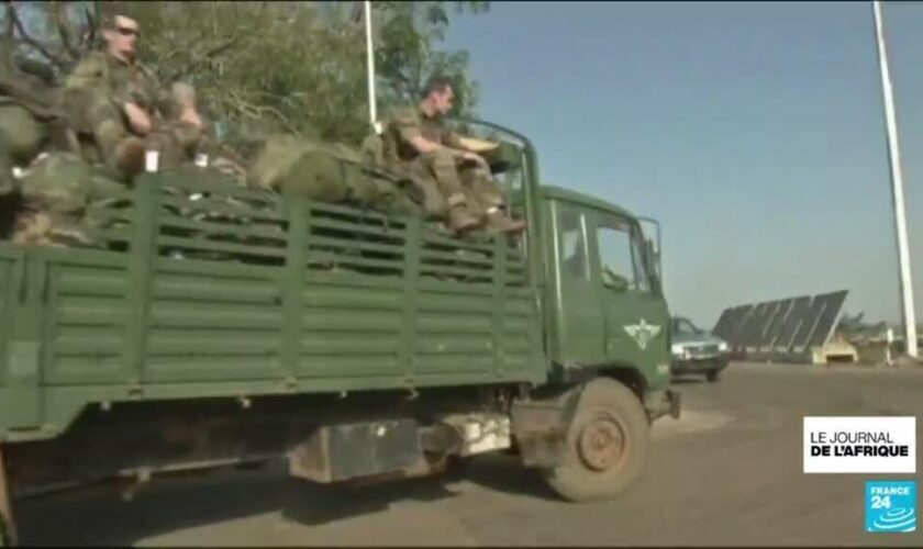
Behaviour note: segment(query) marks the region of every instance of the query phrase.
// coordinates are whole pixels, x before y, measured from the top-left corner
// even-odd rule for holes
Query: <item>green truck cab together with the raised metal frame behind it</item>
[[[618,379],[653,417],[678,414],[670,380],[670,313],[663,288],[660,228],[652,219],[563,187],[545,184],[532,143],[482,121],[457,127],[498,143],[486,155],[526,219],[522,243],[544,316],[549,377],[574,383]]]

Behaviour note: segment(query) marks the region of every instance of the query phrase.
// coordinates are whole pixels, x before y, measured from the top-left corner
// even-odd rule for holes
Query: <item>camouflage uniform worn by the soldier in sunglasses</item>
[[[92,144],[84,149],[91,161],[102,161],[120,177],[133,173],[120,163],[120,145],[133,134],[122,111],[127,102],[144,109],[153,131],[145,147],[160,153],[160,166],[174,167],[194,154],[197,128],[175,122],[178,105],[153,72],[135,63],[125,64],[108,53],[93,52],[75,67],[65,81],[64,104],[70,123]]]

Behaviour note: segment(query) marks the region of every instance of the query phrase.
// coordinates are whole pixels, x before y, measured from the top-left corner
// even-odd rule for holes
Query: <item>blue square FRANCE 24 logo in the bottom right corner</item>
[[[866,482],[866,531],[916,530],[916,482]]]

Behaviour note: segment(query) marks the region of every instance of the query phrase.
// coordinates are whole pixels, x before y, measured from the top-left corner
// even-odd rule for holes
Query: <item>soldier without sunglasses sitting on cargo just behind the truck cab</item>
[[[463,233],[485,223],[492,231],[522,231],[522,221],[504,214],[503,194],[487,161],[443,122],[442,116],[452,110],[453,98],[452,82],[434,78],[416,107],[399,110],[385,128],[386,163],[422,182],[426,212],[447,210],[453,231]]]

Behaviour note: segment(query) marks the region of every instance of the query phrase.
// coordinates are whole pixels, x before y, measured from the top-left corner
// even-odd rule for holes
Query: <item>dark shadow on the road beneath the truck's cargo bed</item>
[[[387,509],[400,501],[453,497],[440,478],[367,486],[333,486],[291,479],[277,463],[255,471],[222,471],[164,479],[125,502],[113,488],[19,503],[23,546],[131,546],[187,528],[279,513],[307,526]]]

